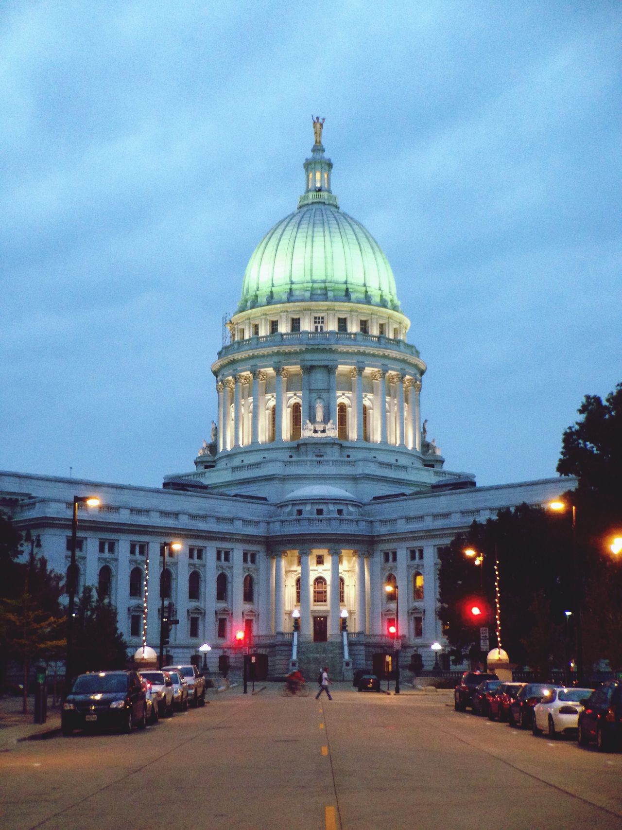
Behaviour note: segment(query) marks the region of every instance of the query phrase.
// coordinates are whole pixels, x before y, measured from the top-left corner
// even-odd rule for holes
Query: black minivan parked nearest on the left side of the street
[[[147,703],[137,671],[93,671],[75,678],[61,714],[63,735],[75,729],[147,725]]]

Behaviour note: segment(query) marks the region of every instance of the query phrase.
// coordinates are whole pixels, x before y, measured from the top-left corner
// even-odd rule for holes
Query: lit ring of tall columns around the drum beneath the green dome
[[[338,372],[348,367],[329,366],[328,401],[324,423],[338,423],[338,402],[349,408],[350,441],[389,443],[395,447],[421,449],[420,378],[384,368],[349,367],[351,388],[338,388]],[[364,375],[372,381],[372,393],[363,390]],[[291,378],[292,383],[288,379]],[[298,381],[297,383],[294,383]],[[274,393],[266,393],[268,381]],[[270,386],[272,383],[270,383]],[[291,386],[295,386],[292,390]],[[287,442],[292,438],[291,408],[300,406],[301,423],[315,421],[314,404],[309,395],[309,368],[275,366],[250,369],[222,377],[216,383],[218,393],[218,452],[234,447]],[[367,412],[364,412],[367,410]],[[367,415],[367,432],[364,429]]]

